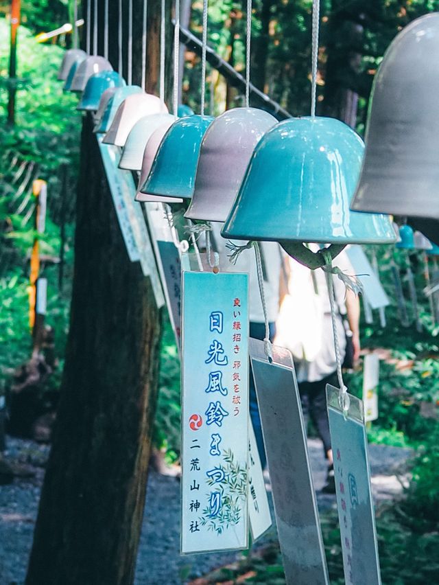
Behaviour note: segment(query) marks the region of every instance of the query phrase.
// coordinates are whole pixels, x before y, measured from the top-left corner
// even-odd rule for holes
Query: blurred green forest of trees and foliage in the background
[[[54,43],[38,43],[36,34],[71,21],[72,2],[32,0],[22,3],[18,38],[16,125],[5,124],[8,101],[9,2],[0,2],[0,395],[8,394],[12,370],[29,358],[32,339],[28,323],[29,249],[35,238],[32,179],[48,181],[49,206],[40,250],[45,256],[43,275],[49,282],[47,323],[54,328],[58,366],[40,388],[42,412],[56,402],[69,328],[73,279],[73,235],[81,115],[76,98],[62,92],[56,73],[69,36]],[[190,8],[189,30],[200,37],[202,3]],[[439,10],[439,1],[323,0],[318,74],[318,115],[344,119],[362,135],[372,81],[392,38],[416,17]],[[311,1],[258,0],[252,14],[252,82],[292,115],[307,115],[310,102]],[[232,1],[209,1],[209,45],[237,71],[244,72],[245,7]],[[243,96],[217,71],[208,68],[208,104],[215,115],[240,106]],[[198,111],[200,60],[186,51],[182,101]],[[431,319],[422,295],[422,253],[378,250],[381,279],[394,301],[392,262],[404,275],[410,263],[415,273],[423,331],[403,328],[396,305],[387,310],[388,325],[381,329],[362,323],[364,348],[390,351],[381,363],[380,415],[370,428],[370,440],[417,450],[412,481],[401,502],[378,511],[381,564],[386,583],[434,582],[439,565],[438,448],[438,325]],[[403,280],[408,297],[407,283]],[[412,314],[412,307],[408,304]],[[169,461],[179,456],[180,366],[169,323],[161,343],[158,404],[154,444]],[[361,394],[361,375],[350,377],[350,389]],[[331,571],[341,567],[333,515],[324,525]],[[406,555],[407,550],[412,552]],[[273,584],[281,569],[276,551],[267,558],[248,558],[259,575]],[[331,562],[333,559],[333,562]],[[395,566],[398,566],[396,576]],[[401,567],[403,570],[401,571]],[[265,571],[268,573],[265,574]],[[229,575],[230,576],[230,575]],[[270,581],[271,580],[271,581]]]

